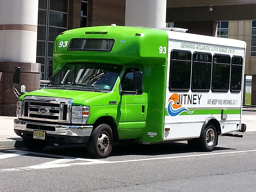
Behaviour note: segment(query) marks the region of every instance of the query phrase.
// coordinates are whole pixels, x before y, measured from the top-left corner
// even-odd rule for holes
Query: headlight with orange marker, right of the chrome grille
[[[89,116],[89,106],[72,106],[72,123],[85,124]]]

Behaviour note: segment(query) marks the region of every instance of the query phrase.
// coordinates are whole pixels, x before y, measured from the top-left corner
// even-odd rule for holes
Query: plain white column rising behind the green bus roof
[[[166,0],[126,0],[125,25],[166,27]]]

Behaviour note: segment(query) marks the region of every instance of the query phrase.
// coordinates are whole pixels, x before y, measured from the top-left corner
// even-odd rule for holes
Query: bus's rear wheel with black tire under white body
[[[210,152],[217,144],[218,134],[214,124],[207,124],[203,134],[198,139],[198,147],[205,152]]]

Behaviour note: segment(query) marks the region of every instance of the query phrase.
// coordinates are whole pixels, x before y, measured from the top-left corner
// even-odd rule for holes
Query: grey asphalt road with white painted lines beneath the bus
[[[118,144],[106,159],[90,159],[81,145],[0,150],[0,191],[254,192],[255,138],[220,136],[209,153],[186,142]]]

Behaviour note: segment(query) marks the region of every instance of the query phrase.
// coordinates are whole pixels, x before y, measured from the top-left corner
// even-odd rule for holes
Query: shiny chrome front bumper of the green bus
[[[45,140],[65,143],[86,143],[92,132],[92,125],[57,125],[14,120],[14,132],[22,138],[33,138],[33,131],[44,131]]]

